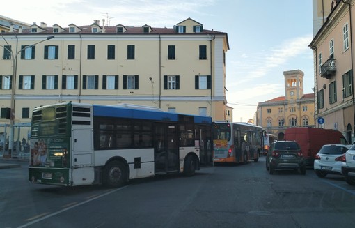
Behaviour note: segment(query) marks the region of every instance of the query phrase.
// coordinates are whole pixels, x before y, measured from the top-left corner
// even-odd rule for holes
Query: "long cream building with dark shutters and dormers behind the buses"
[[[70,100],[148,105],[218,121],[230,110],[227,33],[206,30],[191,18],[173,28],[41,23],[3,38],[0,123],[8,123],[12,93],[15,123],[29,123],[34,107]]]

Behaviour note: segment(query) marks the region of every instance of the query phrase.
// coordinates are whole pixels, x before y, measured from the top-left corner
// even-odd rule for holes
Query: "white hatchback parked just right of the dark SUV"
[[[342,175],[343,155],[351,145],[327,144],[315,155],[313,169],[317,176],[324,178],[327,174]]]

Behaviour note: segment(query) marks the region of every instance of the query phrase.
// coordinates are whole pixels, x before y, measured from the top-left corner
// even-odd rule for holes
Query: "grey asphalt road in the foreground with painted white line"
[[[157,176],[123,188],[27,182],[0,169],[0,227],[354,227],[355,186],[308,169],[269,175],[265,158]]]

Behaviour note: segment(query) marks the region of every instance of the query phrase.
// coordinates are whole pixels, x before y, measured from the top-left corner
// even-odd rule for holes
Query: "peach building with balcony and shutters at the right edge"
[[[314,56],[315,119],[354,142],[354,0],[333,1],[309,47]]]

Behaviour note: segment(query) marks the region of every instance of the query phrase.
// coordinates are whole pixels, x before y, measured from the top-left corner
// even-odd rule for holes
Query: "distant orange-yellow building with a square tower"
[[[283,138],[286,128],[315,126],[314,94],[303,93],[303,71],[290,70],[283,75],[285,96],[259,102],[254,118],[257,126],[279,139]]]

